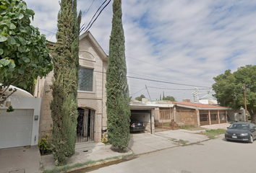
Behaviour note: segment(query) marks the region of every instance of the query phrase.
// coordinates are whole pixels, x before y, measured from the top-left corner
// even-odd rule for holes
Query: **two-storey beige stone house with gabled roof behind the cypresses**
[[[77,142],[100,142],[102,132],[106,130],[106,53],[90,32],[80,36],[80,71],[78,86]],[[50,102],[53,99],[51,71],[44,79],[38,80],[35,96],[42,97],[40,110],[40,137],[51,133],[53,121]]]

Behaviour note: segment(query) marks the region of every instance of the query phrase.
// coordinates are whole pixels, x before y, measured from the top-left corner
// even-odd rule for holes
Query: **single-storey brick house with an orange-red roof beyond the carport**
[[[211,125],[227,122],[228,107],[186,102],[150,102],[155,108],[155,126],[175,122],[178,125]]]

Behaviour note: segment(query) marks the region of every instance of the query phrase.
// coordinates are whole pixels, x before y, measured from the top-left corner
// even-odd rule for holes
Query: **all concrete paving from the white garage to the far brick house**
[[[203,126],[203,128],[225,128],[229,124]],[[67,159],[68,165],[77,163],[86,163],[88,161],[99,161],[108,158],[119,159],[121,156],[130,154],[147,154],[154,151],[182,145],[180,141],[186,144],[197,143],[208,140],[208,137],[200,135],[204,130],[166,130],[150,133],[131,133],[129,148],[126,153],[117,152],[113,146],[105,146],[104,143],[77,143],[74,156]],[[0,173],[39,173],[40,170],[54,169],[53,155],[40,156],[38,147],[19,147],[0,150]],[[39,164],[40,162],[40,164]]]

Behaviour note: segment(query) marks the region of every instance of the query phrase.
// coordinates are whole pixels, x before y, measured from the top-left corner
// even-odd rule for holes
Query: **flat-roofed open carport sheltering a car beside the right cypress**
[[[131,118],[135,118],[144,123],[145,131],[148,133],[155,133],[155,123],[154,123],[154,105],[147,105],[143,102],[131,99],[130,110]]]

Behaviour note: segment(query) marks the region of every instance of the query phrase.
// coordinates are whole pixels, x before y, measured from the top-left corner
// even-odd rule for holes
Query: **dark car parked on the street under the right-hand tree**
[[[225,133],[226,141],[248,141],[253,143],[256,138],[256,125],[253,123],[233,123]]]

